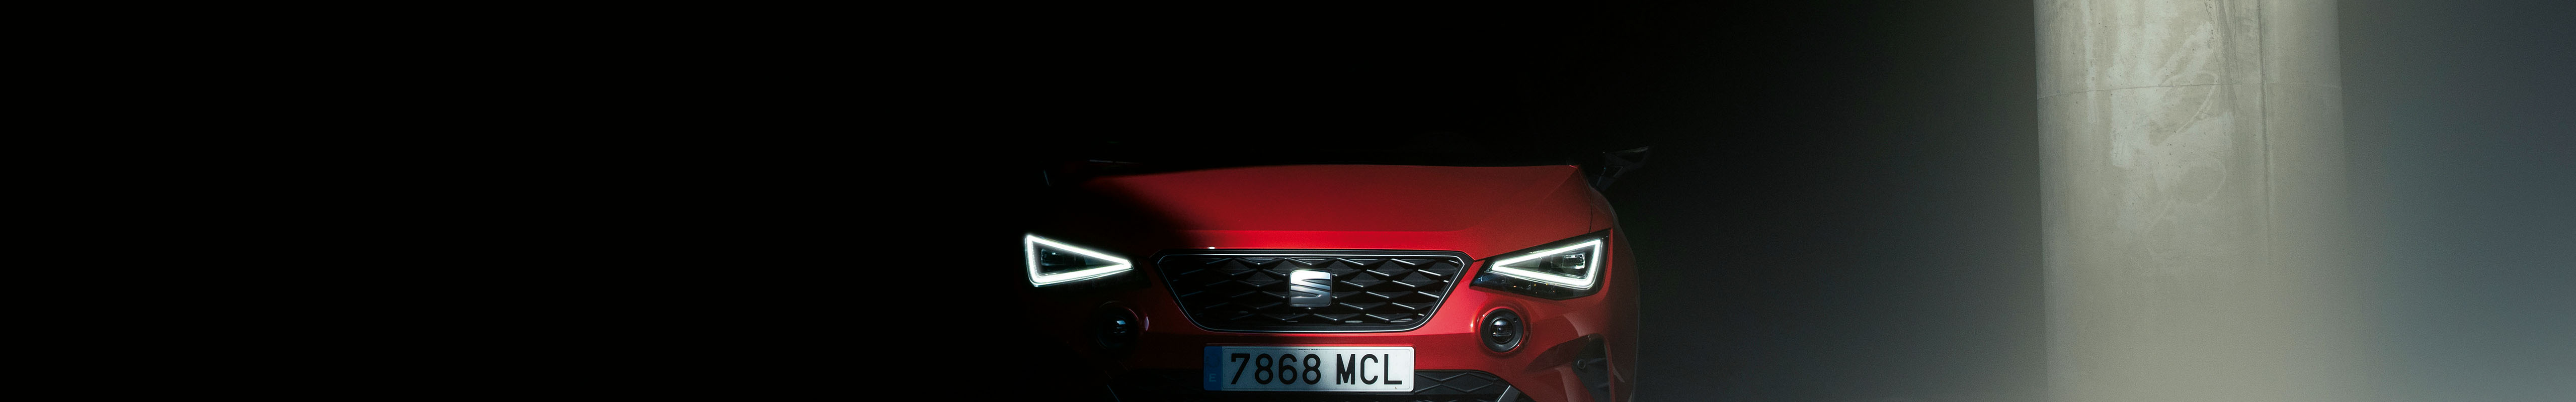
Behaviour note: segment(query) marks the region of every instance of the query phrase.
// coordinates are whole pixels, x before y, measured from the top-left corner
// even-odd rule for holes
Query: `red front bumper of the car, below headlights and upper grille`
[[[1613,240],[1618,242],[1618,240]],[[1154,258],[1141,258],[1154,260]],[[1159,265],[1139,265],[1133,278],[1087,289],[1033,291],[1030,317],[1056,348],[1084,366],[1079,389],[1105,389],[1118,399],[1625,399],[1633,384],[1636,286],[1623,278],[1625,247],[1613,245],[1602,291],[1577,299],[1538,299],[1466,283],[1484,271],[1473,260],[1458,286],[1419,327],[1399,332],[1224,332],[1195,325],[1162,278]],[[1517,348],[1492,350],[1479,322],[1497,309],[1522,317]],[[1136,317],[1133,340],[1100,343],[1100,317]],[[1206,345],[1406,345],[1414,348],[1414,392],[1203,392]]]

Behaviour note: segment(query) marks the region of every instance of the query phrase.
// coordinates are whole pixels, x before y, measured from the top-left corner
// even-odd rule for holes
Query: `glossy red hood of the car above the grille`
[[[1579,168],[1267,165],[1110,175],[1084,193],[1167,232],[1136,247],[1466,250],[1476,258],[1607,229]]]

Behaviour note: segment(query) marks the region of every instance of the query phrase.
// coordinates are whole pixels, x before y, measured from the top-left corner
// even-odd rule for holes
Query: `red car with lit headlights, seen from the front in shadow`
[[[1262,165],[1064,186],[1023,307],[1072,394],[1625,402],[1638,268],[1577,165]]]

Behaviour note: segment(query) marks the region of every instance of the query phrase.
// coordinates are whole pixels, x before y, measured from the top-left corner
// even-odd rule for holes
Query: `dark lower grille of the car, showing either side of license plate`
[[[1486,371],[1414,371],[1414,392],[1206,392],[1198,371],[1128,371],[1110,392],[1123,402],[1530,402]]]

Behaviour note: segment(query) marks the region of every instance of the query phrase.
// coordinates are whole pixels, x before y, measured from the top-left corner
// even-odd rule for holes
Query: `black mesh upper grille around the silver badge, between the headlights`
[[[1458,273],[1463,253],[1370,250],[1188,250],[1154,265],[1190,322],[1236,332],[1386,332],[1430,322]],[[1332,299],[1291,304],[1288,276],[1324,271]]]

